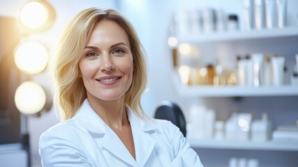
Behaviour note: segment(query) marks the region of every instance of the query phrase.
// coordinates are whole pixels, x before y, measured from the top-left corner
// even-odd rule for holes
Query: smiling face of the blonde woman
[[[133,72],[132,51],[125,31],[112,21],[97,23],[79,61],[79,70],[88,99],[124,98]]]

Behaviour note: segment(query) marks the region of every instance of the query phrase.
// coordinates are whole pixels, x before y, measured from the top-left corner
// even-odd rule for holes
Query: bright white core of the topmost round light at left
[[[49,12],[42,3],[31,1],[23,6],[19,17],[24,26],[36,29],[47,22]]]

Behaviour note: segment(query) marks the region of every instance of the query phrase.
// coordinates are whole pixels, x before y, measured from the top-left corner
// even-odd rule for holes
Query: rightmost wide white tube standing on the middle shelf
[[[284,83],[285,57],[273,56],[272,57],[272,70],[273,70],[273,85],[281,86]]]

